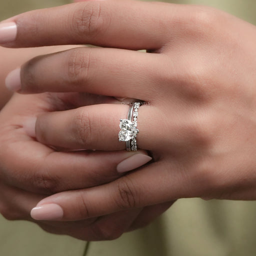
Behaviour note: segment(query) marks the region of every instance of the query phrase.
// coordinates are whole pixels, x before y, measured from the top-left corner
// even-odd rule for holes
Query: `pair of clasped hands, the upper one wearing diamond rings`
[[[109,239],[178,198],[255,199],[253,25],[209,7],[130,0],[6,22],[15,32],[6,47],[102,46],[38,56],[6,79],[19,94],[0,113],[0,175],[6,193],[20,191],[8,206],[19,218],[31,220],[36,205],[31,216],[51,232]],[[138,152],[118,141],[128,106],[116,97],[147,102]],[[150,160],[146,152],[149,163],[118,172],[131,154]]]

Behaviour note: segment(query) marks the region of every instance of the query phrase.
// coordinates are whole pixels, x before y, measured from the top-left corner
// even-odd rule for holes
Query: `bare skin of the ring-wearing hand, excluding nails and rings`
[[[52,19],[57,13],[63,20]],[[112,182],[44,198],[37,205],[63,209],[55,221],[182,197],[256,198],[255,26],[208,7],[126,0],[78,2],[13,20],[17,37],[7,47],[104,46],[25,63],[18,92],[75,90],[149,103],[139,108],[137,144],[154,161]],[[116,134],[126,113],[127,105],[108,102],[41,114],[35,136],[60,148],[124,149]]]

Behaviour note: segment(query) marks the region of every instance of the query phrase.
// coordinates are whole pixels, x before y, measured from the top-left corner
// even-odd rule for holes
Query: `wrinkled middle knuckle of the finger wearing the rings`
[[[74,134],[76,135],[76,141],[81,143],[82,146],[89,146],[92,139],[91,132],[91,116],[88,111],[77,109],[77,113],[74,115]]]

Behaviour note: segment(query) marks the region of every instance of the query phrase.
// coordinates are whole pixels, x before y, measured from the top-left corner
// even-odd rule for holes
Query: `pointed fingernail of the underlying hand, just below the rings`
[[[138,168],[138,167],[142,166],[143,164],[149,162],[151,159],[152,159],[152,157],[150,157],[147,154],[141,154],[141,153],[133,154],[132,156],[121,161],[116,166],[116,170],[118,172],[125,172],[125,171],[129,171],[129,170],[133,170],[133,169]]]

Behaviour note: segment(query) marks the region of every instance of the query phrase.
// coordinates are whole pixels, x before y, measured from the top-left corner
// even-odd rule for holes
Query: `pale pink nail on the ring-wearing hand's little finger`
[[[63,209],[55,203],[42,204],[32,208],[30,215],[36,220],[54,220],[63,217]]]

